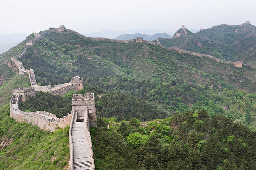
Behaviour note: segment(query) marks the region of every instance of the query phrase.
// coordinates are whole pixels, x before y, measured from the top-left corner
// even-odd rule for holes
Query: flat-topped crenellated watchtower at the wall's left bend
[[[28,96],[36,96],[36,91],[34,87],[20,87],[13,89],[13,95],[15,98],[20,96],[21,102],[25,102]]]

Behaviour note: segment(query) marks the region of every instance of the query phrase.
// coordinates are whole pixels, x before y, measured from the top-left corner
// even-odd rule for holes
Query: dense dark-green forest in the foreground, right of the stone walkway
[[[256,169],[256,133],[205,110],[150,122],[98,117],[91,135],[96,170]]]

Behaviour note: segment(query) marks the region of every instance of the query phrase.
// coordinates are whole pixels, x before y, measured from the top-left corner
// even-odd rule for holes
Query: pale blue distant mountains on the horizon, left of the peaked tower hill
[[[135,39],[136,37],[143,37],[143,40],[152,41],[152,40],[156,40],[157,37],[172,38],[172,35],[168,35],[166,33],[156,33],[154,35],[146,35],[146,34],[136,33],[136,34],[123,34],[123,35],[116,37],[115,39],[117,39],[117,40],[132,40],[132,39]]]

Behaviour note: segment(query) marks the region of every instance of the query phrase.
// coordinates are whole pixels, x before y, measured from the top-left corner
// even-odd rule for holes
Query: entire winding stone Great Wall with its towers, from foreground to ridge
[[[26,43],[23,52],[18,55],[18,58],[22,57],[28,47],[33,46],[33,43],[39,41],[41,37],[48,32],[62,32],[67,31],[75,33],[85,39],[93,41],[111,41],[111,42],[145,42],[152,45],[160,45],[162,48],[167,50],[176,50],[180,53],[192,54],[199,57],[207,57],[212,60],[223,62],[226,64],[233,64],[235,67],[242,67],[241,61],[225,61],[220,60],[211,55],[200,54],[196,52],[181,50],[177,47],[164,47],[160,44],[159,38],[157,38],[157,43],[145,41],[141,37],[136,38],[136,40],[113,40],[108,38],[94,38],[86,37],[79,34],[73,30],[66,30],[64,25],[61,25],[59,28],[50,28],[49,30],[44,31],[41,34],[33,33],[35,38],[33,40],[28,40]],[[185,30],[184,30],[185,31]],[[186,34],[186,31],[185,31]],[[187,35],[187,34],[186,34]],[[23,67],[22,62],[17,60],[17,58],[11,58],[12,62],[18,67],[19,74],[24,75],[28,74],[29,80],[31,82],[31,87],[20,87],[18,89],[13,89],[13,96],[10,100],[10,117],[13,117],[18,122],[27,122],[37,125],[39,128],[44,130],[55,131],[57,127],[64,128],[67,125],[70,125],[69,129],[69,150],[70,150],[70,169],[71,170],[95,170],[94,158],[92,153],[92,141],[90,136],[90,125],[95,126],[96,120],[96,108],[95,108],[95,96],[91,94],[78,94],[73,95],[72,97],[72,110],[71,114],[67,114],[63,118],[58,118],[56,115],[45,112],[45,111],[36,111],[36,112],[23,112],[20,110],[21,102],[24,102],[28,95],[35,96],[40,91],[49,92],[54,95],[64,95],[70,90],[78,91],[83,88],[83,79],[78,75],[73,77],[69,83],[64,83],[61,85],[51,85],[39,86],[36,82],[36,77],[33,69],[26,70]]]

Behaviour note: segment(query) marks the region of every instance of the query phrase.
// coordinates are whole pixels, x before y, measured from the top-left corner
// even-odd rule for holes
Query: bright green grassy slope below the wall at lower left
[[[2,170],[61,170],[69,161],[69,126],[54,133],[10,118],[9,105],[0,108]]]

